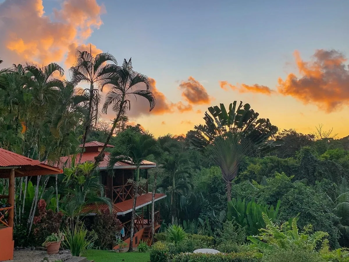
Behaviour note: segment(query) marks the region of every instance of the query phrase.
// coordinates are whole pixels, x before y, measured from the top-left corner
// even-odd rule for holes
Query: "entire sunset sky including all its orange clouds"
[[[349,134],[349,1],[0,0],[2,65],[52,61],[76,48],[112,53],[148,75],[157,104],[130,121],[185,134],[207,107],[250,103],[279,130],[322,123]],[[104,116],[113,118],[112,112]]]

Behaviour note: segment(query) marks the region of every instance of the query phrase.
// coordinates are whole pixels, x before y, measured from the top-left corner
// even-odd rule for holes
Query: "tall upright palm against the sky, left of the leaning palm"
[[[108,61],[114,64],[107,64]],[[88,117],[84,122],[84,132],[82,136],[82,151],[85,149],[87,134],[94,121],[98,118],[98,103],[100,100],[98,89],[94,87],[96,82],[104,83],[116,77],[118,70],[117,61],[110,53],[100,53],[93,57],[91,52],[76,51],[76,63],[70,68],[70,75],[75,86],[79,83],[87,83],[90,88],[83,92],[89,95]],[[80,154],[79,162],[81,162]]]

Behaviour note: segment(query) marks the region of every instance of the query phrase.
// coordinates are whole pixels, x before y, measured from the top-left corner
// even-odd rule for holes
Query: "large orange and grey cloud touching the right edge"
[[[285,80],[279,78],[278,91],[304,104],[314,103],[319,109],[331,112],[349,105],[349,70],[347,59],[336,50],[316,50],[311,61],[303,61],[294,53],[299,77],[291,73]]]

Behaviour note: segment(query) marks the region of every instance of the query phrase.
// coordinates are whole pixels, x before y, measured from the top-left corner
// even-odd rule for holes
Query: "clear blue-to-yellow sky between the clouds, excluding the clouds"
[[[24,11],[29,8],[25,4],[34,5],[41,0],[5,2],[9,1]],[[84,39],[84,44],[92,43],[112,53],[119,63],[132,57],[135,70],[155,79],[156,88],[171,103],[183,101],[178,86],[190,76],[199,81],[212,98],[211,104],[195,104],[193,111],[186,114],[173,112],[131,119],[151,132],[186,133],[194,124],[202,122],[208,106],[242,100],[280,129],[311,132],[315,125],[324,123],[325,127],[334,127],[341,136],[348,134],[348,124],[344,124],[348,119],[349,95],[346,96],[344,90],[347,86],[342,90],[344,107],[328,113],[319,109],[318,104],[305,105],[292,95],[226,92],[220,88],[219,81],[232,85],[257,83],[276,90],[279,77],[285,79],[289,73],[298,74],[295,50],[304,61],[310,61],[317,49],[335,49],[348,57],[349,1],[65,0],[81,5],[95,4],[95,1],[104,6],[103,24]],[[43,0],[45,15],[51,21],[54,8],[61,9],[63,2]],[[30,10],[37,12],[35,8]],[[26,18],[22,24],[29,22]],[[38,22],[46,23],[42,17]],[[11,33],[21,28],[21,23],[18,25],[11,28]],[[48,28],[52,28],[52,24]],[[40,38],[43,32],[35,34]],[[27,42],[33,37],[27,36]],[[71,39],[76,41],[74,36]],[[0,39],[0,54],[8,51],[2,50],[2,46]],[[196,112],[198,109],[202,113]],[[164,121],[166,124],[161,124]]]

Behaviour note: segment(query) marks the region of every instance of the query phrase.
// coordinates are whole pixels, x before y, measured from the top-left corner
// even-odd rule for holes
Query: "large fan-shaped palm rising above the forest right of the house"
[[[259,114],[251,109],[250,104],[237,101],[220,107],[209,107],[205,112],[205,125],[195,126],[187,134],[187,139],[196,148],[210,145],[210,152],[215,162],[222,169],[224,181],[227,183],[227,200],[231,201],[231,182],[236,177],[239,161],[247,152],[262,148],[266,140],[276,134],[277,127],[269,119],[258,118]],[[224,141],[226,140],[227,141]],[[231,157],[229,154],[233,154]]]

